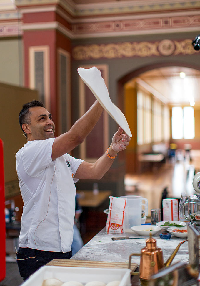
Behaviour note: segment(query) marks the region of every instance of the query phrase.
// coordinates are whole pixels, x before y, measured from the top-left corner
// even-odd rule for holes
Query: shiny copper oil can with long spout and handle
[[[140,272],[134,272],[134,275],[139,274],[141,285],[148,285],[148,280],[150,280],[152,275],[156,274],[161,268],[168,267],[174,259],[181,244],[187,240],[181,241],[179,243],[179,245],[176,247],[174,252],[165,263],[163,259],[162,249],[157,247],[156,241],[157,240],[154,239],[150,233],[149,238],[146,240],[146,247],[141,249],[141,253],[131,253],[129,256],[129,268],[131,266],[132,256],[141,256]]]

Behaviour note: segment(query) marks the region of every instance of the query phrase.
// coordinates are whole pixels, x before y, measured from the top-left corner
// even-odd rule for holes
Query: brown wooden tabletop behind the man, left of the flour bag
[[[109,196],[111,191],[99,191],[98,194],[94,194],[91,190],[76,190],[78,201],[81,207],[99,207]]]

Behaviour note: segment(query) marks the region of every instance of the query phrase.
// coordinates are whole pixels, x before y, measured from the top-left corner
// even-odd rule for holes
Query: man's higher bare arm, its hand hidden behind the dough
[[[52,160],[70,152],[82,143],[96,125],[102,111],[103,107],[98,101],[95,101],[90,109],[74,123],[68,132],[56,137],[52,146]]]

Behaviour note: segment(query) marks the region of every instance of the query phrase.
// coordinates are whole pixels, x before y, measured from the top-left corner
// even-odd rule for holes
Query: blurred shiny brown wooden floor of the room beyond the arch
[[[181,198],[181,193],[188,196],[195,193],[192,186],[194,172],[200,170],[200,150],[191,152],[189,158],[178,150],[176,158],[167,160],[162,165],[155,165],[151,172],[140,175],[126,174],[126,195],[140,195],[149,201],[149,216],[152,208],[161,207],[164,188],[168,189],[169,198]]]

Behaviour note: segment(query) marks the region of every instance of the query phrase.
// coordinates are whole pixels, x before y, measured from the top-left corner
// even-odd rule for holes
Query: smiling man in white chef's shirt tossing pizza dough
[[[96,101],[71,127],[54,137],[51,114],[40,101],[23,105],[19,123],[28,142],[16,154],[16,167],[24,201],[17,263],[21,277],[29,277],[52,259],[72,256],[76,188],[79,179],[101,179],[130,137],[120,127],[107,152],[95,163],[68,152],[84,141],[103,108]]]

